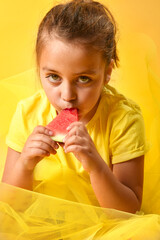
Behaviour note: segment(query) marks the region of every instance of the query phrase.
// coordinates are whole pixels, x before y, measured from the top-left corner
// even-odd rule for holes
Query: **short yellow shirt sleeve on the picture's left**
[[[21,152],[27,140],[26,120],[23,114],[23,105],[18,103],[16,111],[11,120],[6,144],[17,152]]]

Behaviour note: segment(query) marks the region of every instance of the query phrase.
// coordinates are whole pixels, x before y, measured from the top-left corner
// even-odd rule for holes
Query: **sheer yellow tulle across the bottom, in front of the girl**
[[[7,184],[0,185],[0,192],[1,239],[150,240],[160,235],[158,215],[102,209]]]

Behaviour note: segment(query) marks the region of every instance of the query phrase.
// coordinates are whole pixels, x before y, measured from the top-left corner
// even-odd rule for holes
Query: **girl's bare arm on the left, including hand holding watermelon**
[[[8,148],[2,182],[32,190],[33,171],[36,164],[50,153],[56,154],[58,144],[43,126],[37,126],[28,137],[22,152]]]

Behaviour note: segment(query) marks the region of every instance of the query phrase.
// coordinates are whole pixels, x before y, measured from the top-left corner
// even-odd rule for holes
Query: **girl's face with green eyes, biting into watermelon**
[[[60,112],[77,108],[87,123],[95,114],[102,88],[111,74],[101,54],[80,44],[49,40],[39,59],[40,78],[50,103]]]

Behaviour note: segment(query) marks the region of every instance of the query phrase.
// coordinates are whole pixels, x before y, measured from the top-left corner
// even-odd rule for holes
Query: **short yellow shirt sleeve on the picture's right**
[[[144,155],[147,144],[140,109],[119,110],[113,119],[109,146],[112,164]]]

